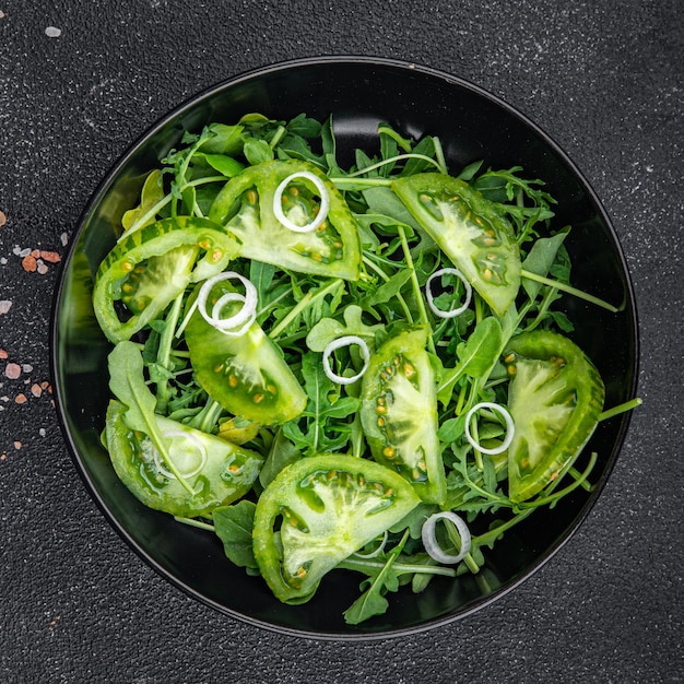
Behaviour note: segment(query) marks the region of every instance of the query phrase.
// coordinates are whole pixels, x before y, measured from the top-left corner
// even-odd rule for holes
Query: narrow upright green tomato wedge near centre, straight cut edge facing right
[[[376,351],[362,379],[361,420],[373,458],[400,473],[423,500],[441,504],[447,483],[426,341],[427,331],[420,328]]]

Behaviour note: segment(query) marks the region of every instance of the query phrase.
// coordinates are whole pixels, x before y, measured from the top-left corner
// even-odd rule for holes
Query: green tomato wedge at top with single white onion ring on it
[[[330,199],[328,217],[310,233],[291,231],[273,211],[279,185],[302,172],[314,174]],[[296,178],[283,192],[283,212],[297,225],[308,224],[318,212],[319,200],[312,184]],[[221,190],[209,217],[241,240],[244,257],[302,273],[358,280],[358,226],[340,191],[312,164],[272,161],[246,168]]]

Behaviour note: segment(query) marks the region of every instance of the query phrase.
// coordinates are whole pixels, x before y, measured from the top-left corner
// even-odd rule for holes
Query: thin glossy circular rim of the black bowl
[[[139,148],[140,144],[142,144],[145,140],[152,137],[156,131],[163,128],[166,123],[168,123],[175,117],[197,106],[201,102],[213,96],[216,92],[222,91],[226,87],[232,87],[234,85],[237,85],[238,83],[249,81],[251,79],[259,78],[259,76],[270,74],[270,73],[295,70],[295,69],[299,69],[299,68],[308,67],[308,66],[344,64],[344,63],[382,66],[382,67],[393,68],[397,70],[410,70],[413,72],[423,73],[426,76],[444,80],[445,82],[449,84],[471,91],[477,96],[484,99],[487,99],[491,103],[498,106],[499,108],[506,110],[508,115],[512,116],[514,118],[517,118],[520,122],[522,122],[526,127],[528,127],[536,137],[539,137],[544,142],[544,144],[546,144],[550,149],[552,149],[553,152],[563,161],[563,163],[571,172],[571,174],[579,181],[582,189],[586,191],[591,203],[594,205],[597,212],[600,214],[602,221],[604,222],[608,228],[608,232],[610,234],[611,240],[616,247],[616,255],[620,260],[622,273],[624,274],[624,278],[625,278],[625,288],[627,293],[626,303],[625,303],[625,307],[626,307],[625,312],[629,316],[630,320],[634,323],[633,326],[634,327],[634,340],[633,340],[634,375],[633,375],[633,382],[632,382],[632,388],[630,388],[630,396],[633,397],[636,396],[636,390],[637,390],[637,385],[638,385],[638,375],[639,375],[638,372],[639,372],[640,354],[639,354],[638,314],[636,309],[636,297],[634,293],[634,285],[633,285],[632,278],[629,274],[629,269],[628,269],[624,252],[622,250],[620,239],[613,226],[613,223],[610,216],[608,215],[608,212],[605,211],[602,202],[597,196],[595,191],[593,190],[593,188],[591,187],[591,185],[589,184],[585,175],[580,172],[578,166],[575,164],[575,162],[570,160],[567,153],[555,142],[555,140],[553,140],[553,138],[551,138],[551,135],[549,135],[549,133],[542,130],[528,116],[526,116],[524,114],[522,114],[521,111],[519,111],[518,109],[509,105],[499,96],[494,95],[493,93],[491,93],[490,91],[485,90],[484,87],[480,85],[476,85],[472,83],[471,81],[463,79],[461,76],[453,75],[451,73],[435,69],[433,67],[418,64],[413,61],[410,62],[410,61],[393,59],[393,58],[372,57],[372,56],[361,56],[361,55],[326,55],[326,56],[318,56],[318,57],[305,57],[305,58],[274,62],[271,64],[257,67],[247,71],[241,71],[239,73],[236,73],[232,76],[228,76],[215,83],[214,85],[210,87],[199,91],[194,95],[187,97],[181,104],[176,106],[174,109],[172,109],[164,116],[160,117],[154,123],[149,126],[143,131],[143,133],[140,134],[132,143],[127,145],[126,150],[118,156],[116,162],[109,166],[109,169],[104,175],[103,179],[99,181],[95,190],[92,192],[87,204],[85,205],[84,210],[81,212],[81,215],[79,217],[79,221],[76,224],[76,231],[71,238],[68,253],[66,258],[62,260],[59,280],[55,287],[54,296],[52,296],[50,340],[49,340],[49,343],[50,343],[49,363],[50,363],[50,375],[52,377],[55,405],[56,405],[56,410],[58,414],[58,420],[60,423],[60,428],[61,428],[64,441],[67,443],[70,457],[76,467],[79,475],[81,476],[83,483],[85,484],[86,490],[89,491],[89,494],[91,495],[91,497],[93,498],[93,500],[95,502],[95,504],[97,505],[102,514],[104,515],[105,519],[117,531],[117,533],[121,536],[121,539],[132,549],[132,551],[142,561],[144,561],[154,571],[156,571],[157,575],[160,575],[166,581],[177,587],[184,593],[193,598],[200,603],[214,609],[219,613],[236,618],[243,623],[246,623],[246,624],[249,624],[249,625],[252,625],[252,626],[256,626],[256,627],[269,630],[269,632],[281,634],[281,635],[303,637],[303,638],[315,639],[315,640],[338,640],[338,641],[358,642],[358,641],[381,640],[381,639],[397,638],[397,637],[406,636],[406,635],[414,635],[414,634],[426,632],[428,629],[433,629],[436,627],[451,624],[456,621],[460,621],[480,611],[481,609],[487,605],[491,605],[492,603],[494,603],[495,601],[497,601],[505,594],[509,593],[510,591],[519,587],[529,577],[534,575],[574,536],[574,534],[577,532],[577,530],[579,529],[579,527],[585,521],[590,510],[594,506],[595,502],[598,500],[611,472],[613,471],[613,468],[615,467],[617,456],[624,445],[624,440],[625,440],[625,437],[629,427],[630,418],[632,418],[630,413],[624,414],[620,431],[617,433],[617,438],[614,444],[613,453],[611,458],[609,459],[609,461],[606,462],[606,467],[602,473],[601,480],[597,483],[594,491],[588,497],[582,508],[575,516],[573,527],[568,531],[566,531],[564,536],[558,539],[558,541],[554,545],[552,545],[544,553],[542,553],[534,561],[534,563],[529,568],[527,568],[524,574],[522,574],[520,577],[511,580],[506,586],[503,586],[499,589],[496,589],[494,592],[492,592],[487,597],[483,597],[481,600],[473,602],[468,608],[455,614],[449,614],[449,615],[445,615],[441,617],[428,620],[424,623],[420,623],[411,627],[404,627],[404,628],[398,628],[398,629],[390,628],[390,629],[385,629],[385,630],[377,632],[377,633],[366,633],[366,632],[349,633],[349,634],[347,633],[318,633],[318,632],[311,632],[311,630],[305,630],[305,629],[295,629],[292,627],[285,627],[282,625],[268,623],[266,621],[255,618],[248,614],[232,610],[211,599],[208,599],[207,597],[201,594],[199,591],[189,587],[187,583],[185,583],[177,577],[173,576],[166,569],[164,569],[154,558],[152,558],[149,555],[149,553],[143,547],[141,547],[131,538],[131,535],[127,532],[127,530],[122,527],[122,524],[119,523],[116,517],[109,511],[106,503],[99,495],[97,487],[95,486],[95,483],[87,476],[85,468],[83,467],[81,462],[81,456],[79,455],[75,444],[69,432],[66,404],[62,400],[61,388],[58,381],[59,359],[58,359],[58,345],[56,344],[56,340],[58,339],[58,334],[59,334],[58,333],[58,312],[59,312],[59,307],[60,307],[62,295],[63,295],[63,285],[64,285],[63,275],[68,271],[71,264],[71,260],[75,251],[75,245],[78,244],[81,232],[84,229],[87,216],[90,215],[91,211],[101,200],[102,196],[106,192],[108,185],[110,182],[110,179],[126,165],[129,157],[133,154],[133,152]]]

